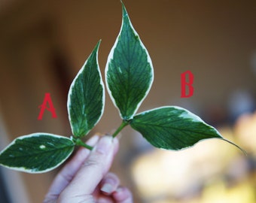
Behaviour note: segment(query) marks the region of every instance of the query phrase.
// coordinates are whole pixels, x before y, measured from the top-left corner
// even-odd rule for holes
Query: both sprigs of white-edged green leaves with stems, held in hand
[[[166,150],[192,147],[209,138],[233,144],[213,126],[184,108],[164,106],[137,113],[151,89],[154,69],[148,50],[121,3],[122,25],[105,67],[106,89],[122,120],[112,136],[116,137],[125,126],[131,126],[154,147]],[[43,173],[65,162],[75,146],[93,149],[83,138],[99,123],[105,106],[105,85],[98,63],[99,44],[100,41],[69,89],[67,108],[72,136],[67,138],[44,132],[23,135],[2,150],[0,165],[17,171]]]

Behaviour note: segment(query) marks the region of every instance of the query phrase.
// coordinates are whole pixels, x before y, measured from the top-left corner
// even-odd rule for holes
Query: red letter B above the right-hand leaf
[[[186,75],[188,76],[188,81],[186,82]],[[194,75],[190,71],[184,71],[181,73],[181,97],[190,97],[194,93],[194,87],[192,86],[194,82]],[[186,86],[188,87],[188,92],[186,93]]]

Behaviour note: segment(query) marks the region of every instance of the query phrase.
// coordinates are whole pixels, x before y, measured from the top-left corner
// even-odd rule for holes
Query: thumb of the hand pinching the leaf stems
[[[100,138],[69,186],[59,195],[59,202],[91,202],[87,200],[92,198],[91,194],[111,167],[118,145],[117,138]]]

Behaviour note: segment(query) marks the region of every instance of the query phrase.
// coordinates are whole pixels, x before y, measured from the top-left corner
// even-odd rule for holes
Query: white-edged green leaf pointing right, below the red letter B
[[[221,134],[200,117],[175,106],[156,108],[136,115],[130,125],[154,147],[181,150],[198,141],[221,138]]]

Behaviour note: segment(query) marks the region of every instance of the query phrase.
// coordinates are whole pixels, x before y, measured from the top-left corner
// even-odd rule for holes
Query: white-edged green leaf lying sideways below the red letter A
[[[0,153],[0,165],[27,173],[43,173],[58,167],[74,150],[69,138],[33,133],[15,139]]]

